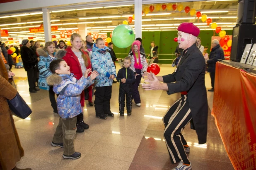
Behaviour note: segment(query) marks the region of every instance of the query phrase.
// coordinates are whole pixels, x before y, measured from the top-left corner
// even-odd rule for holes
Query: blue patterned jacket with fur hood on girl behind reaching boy
[[[39,88],[43,90],[49,90],[50,86],[47,84],[46,79],[47,77],[52,75],[49,68],[51,63],[50,61],[51,57],[47,52],[43,50],[43,48],[38,48],[36,52],[39,55],[39,62],[37,64],[39,69],[39,80],[38,80]]]

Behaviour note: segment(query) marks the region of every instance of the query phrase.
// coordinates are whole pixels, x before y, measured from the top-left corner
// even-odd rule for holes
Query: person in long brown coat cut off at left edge
[[[24,150],[7,103],[17,90],[9,83],[7,70],[0,53],[0,170],[20,170],[16,163],[24,156]]]

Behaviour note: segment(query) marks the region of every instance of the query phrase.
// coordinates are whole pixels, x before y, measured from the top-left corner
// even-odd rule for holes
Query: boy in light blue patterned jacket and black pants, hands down
[[[97,38],[92,48],[91,63],[92,69],[99,73],[94,83],[96,88],[94,106],[96,117],[100,119],[114,116],[110,111],[110,99],[116,68],[111,55],[106,50],[110,49],[105,46],[104,40]]]

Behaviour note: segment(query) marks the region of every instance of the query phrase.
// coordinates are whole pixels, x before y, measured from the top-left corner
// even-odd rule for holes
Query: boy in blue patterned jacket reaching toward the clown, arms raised
[[[74,139],[76,134],[77,115],[82,113],[80,94],[94,83],[99,75],[97,71],[87,69],[85,75],[77,80],[70,73],[70,67],[63,59],[57,59],[50,63],[50,70],[53,75],[47,78],[47,83],[53,85],[53,91],[59,94],[57,99],[59,124],[51,142],[52,146],[64,147],[63,158],[78,159],[81,153],[75,151]],[[91,76],[88,77],[88,74]]]

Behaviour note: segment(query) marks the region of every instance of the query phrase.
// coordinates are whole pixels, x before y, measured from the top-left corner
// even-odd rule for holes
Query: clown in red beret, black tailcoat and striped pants
[[[205,59],[196,46],[200,30],[193,23],[182,23],[178,27],[179,48],[184,52],[174,73],[155,76],[146,73],[149,84],[145,90],[166,90],[167,94],[180,92],[178,99],[163,117],[164,139],[172,163],[179,165],[173,170],[191,170],[187,154],[190,148],[182,135],[184,127],[191,122],[196,130],[198,144],[204,144],[207,137],[208,104],[205,88]],[[163,83],[160,83],[163,82]],[[192,121],[193,120],[193,121]]]

